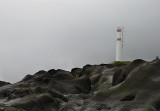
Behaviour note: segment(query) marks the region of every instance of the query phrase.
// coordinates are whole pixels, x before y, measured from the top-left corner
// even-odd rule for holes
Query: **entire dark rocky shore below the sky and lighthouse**
[[[0,111],[159,111],[160,60],[51,69],[0,81]]]

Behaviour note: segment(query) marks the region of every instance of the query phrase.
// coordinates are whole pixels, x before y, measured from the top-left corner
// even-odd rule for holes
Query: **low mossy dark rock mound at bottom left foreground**
[[[46,107],[50,105],[49,103],[52,104],[51,109],[58,108],[58,103],[48,93],[31,96],[28,98],[22,98],[18,102],[12,103],[10,106],[17,109],[24,109],[27,111],[45,111]]]

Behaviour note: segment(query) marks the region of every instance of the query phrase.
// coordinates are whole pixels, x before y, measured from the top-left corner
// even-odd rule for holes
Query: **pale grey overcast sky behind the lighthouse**
[[[0,80],[39,70],[160,56],[160,0],[0,0]]]

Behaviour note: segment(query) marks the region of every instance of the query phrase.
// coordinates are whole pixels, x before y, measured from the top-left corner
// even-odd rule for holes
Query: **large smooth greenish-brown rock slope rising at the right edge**
[[[158,111],[160,109],[159,67],[159,60],[139,62],[123,82],[110,89],[99,91],[93,97],[93,101],[111,104],[111,107],[116,107],[118,111]]]

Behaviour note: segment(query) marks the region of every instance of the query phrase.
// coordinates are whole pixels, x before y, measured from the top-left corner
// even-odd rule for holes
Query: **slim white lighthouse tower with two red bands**
[[[117,28],[117,39],[116,39],[116,61],[122,61],[122,28]]]

